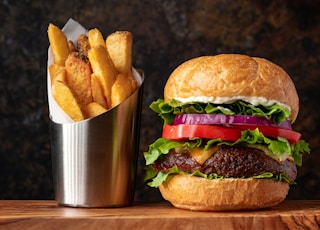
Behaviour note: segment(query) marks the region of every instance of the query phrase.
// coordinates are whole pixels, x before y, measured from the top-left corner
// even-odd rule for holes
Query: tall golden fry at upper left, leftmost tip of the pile
[[[66,35],[57,26],[50,23],[48,27],[48,37],[54,63],[63,66],[69,55],[69,45]]]

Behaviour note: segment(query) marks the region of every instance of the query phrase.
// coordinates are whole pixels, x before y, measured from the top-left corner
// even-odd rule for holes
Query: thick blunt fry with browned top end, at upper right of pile
[[[106,39],[107,50],[119,73],[127,75],[132,66],[132,34],[128,31],[117,31]]]

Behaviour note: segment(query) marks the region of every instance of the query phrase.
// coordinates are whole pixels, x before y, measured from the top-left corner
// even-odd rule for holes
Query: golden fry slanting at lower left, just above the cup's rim
[[[53,81],[52,96],[58,105],[68,114],[74,121],[85,119],[76,98],[72,94],[70,88],[61,81]]]

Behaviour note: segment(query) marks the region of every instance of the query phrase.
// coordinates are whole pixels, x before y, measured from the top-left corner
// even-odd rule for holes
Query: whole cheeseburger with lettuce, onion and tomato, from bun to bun
[[[190,210],[245,210],[282,202],[303,153],[292,130],[299,111],[293,81],[257,57],[220,54],[178,66],[164,99],[150,105],[162,137],[144,153],[145,180]]]

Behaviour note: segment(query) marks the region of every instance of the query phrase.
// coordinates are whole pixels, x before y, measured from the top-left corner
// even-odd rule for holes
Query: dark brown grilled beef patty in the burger
[[[265,172],[273,175],[286,173],[294,181],[297,177],[297,168],[292,160],[279,162],[259,149],[239,146],[221,146],[204,164],[196,162],[189,152],[176,153],[171,149],[163,159],[153,165],[157,171],[168,171],[173,166],[180,170],[192,173],[199,170],[207,175],[216,173],[228,177],[251,177]]]

